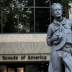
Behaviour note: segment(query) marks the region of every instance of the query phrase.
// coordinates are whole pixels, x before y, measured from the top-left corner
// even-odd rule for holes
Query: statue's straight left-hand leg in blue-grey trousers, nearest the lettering
[[[52,52],[51,63],[53,72],[61,72],[61,58],[59,56],[59,51]]]

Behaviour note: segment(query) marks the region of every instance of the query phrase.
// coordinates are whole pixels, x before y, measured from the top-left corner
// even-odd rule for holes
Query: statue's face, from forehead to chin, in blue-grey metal
[[[57,4],[52,7],[52,15],[54,17],[61,17],[63,14],[62,6]]]

